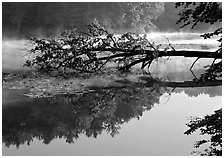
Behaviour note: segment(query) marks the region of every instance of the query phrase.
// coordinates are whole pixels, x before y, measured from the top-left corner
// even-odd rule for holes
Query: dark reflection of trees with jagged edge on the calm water
[[[33,105],[7,107],[2,113],[3,142],[19,147],[34,138],[49,144],[55,138],[73,143],[82,134],[96,138],[103,131],[115,136],[120,125],[140,118],[167,91],[158,86],[95,89],[58,96],[53,101],[38,99]]]

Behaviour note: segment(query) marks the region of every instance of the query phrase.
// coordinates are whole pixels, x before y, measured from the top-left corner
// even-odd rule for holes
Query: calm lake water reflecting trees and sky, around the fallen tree
[[[4,71],[21,71],[18,65],[24,52],[15,54],[21,48],[19,42],[24,43],[3,43]],[[158,61],[151,72],[172,82],[191,80],[192,61]],[[210,60],[200,60],[195,69],[205,63]],[[188,156],[194,150],[202,151],[193,146],[206,136],[198,132],[184,135],[186,123],[191,116],[203,117],[221,108],[221,86],[174,89],[153,80],[150,85],[98,86],[85,93],[44,99],[25,96],[27,89],[3,88],[2,154]]]

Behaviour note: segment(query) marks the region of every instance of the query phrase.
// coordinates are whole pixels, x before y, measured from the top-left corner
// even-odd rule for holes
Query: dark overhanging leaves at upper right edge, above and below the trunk
[[[221,3],[219,2],[178,2],[176,3],[176,7],[182,7],[182,10],[179,13],[180,18],[177,21],[177,24],[182,24],[181,27],[191,25],[191,28],[194,28],[199,23],[207,23],[213,25],[215,23],[222,22],[222,8]],[[221,25],[213,32],[205,33],[201,36],[205,39],[212,38],[213,36],[219,36],[218,42],[220,42],[220,45],[219,49],[216,51],[216,54],[222,54]],[[196,61],[198,59],[196,59]],[[222,61],[214,64],[215,60],[216,58],[214,58],[213,63],[206,70],[206,73],[200,76],[199,80],[214,80],[222,77]]]

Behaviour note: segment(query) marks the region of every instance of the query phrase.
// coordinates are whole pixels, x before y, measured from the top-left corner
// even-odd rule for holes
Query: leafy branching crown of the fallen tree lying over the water
[[[115,62],[121,69],[130,69],[142,63],[149,66],[159,55],[161,45],[155,46],[146,35],[125,33],[116,36],[106,31],[98,21],[88,26],[87,33],[67,30],[61,37],[48,39],[32,38],[34,58],[27,60],[25,66],[40,71],[76,70],[96,72],[106,63]],[[164,50],[172,48],[170,45]],[[150,51],[150,52],[149,52]]]

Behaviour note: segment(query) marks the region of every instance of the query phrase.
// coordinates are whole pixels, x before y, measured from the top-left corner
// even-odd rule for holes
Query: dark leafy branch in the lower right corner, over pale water
[[[222,155],[222,109],[214,114],[206,115],[204,118],[192,118],[187,124],[190,128],[184,134],[190,135],[196,130],[200,130],[201,135],[210,135],[210,140],[200,140],[195,143],[195,148],[199,148],[205,143],[210,143],[209,149],[205,149],[200,155],[221,156]]]

